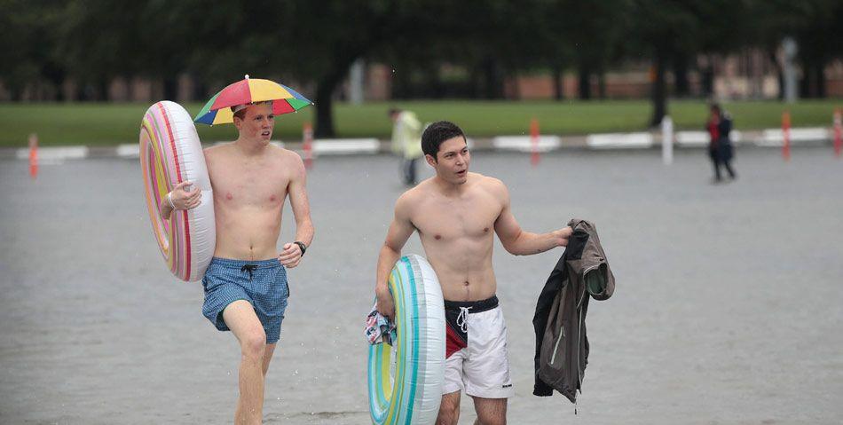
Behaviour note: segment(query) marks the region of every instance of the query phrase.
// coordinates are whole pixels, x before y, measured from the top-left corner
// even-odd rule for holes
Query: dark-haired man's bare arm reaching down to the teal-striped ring
[[[377,280],[374,284],[374,295],[377,296],[377,309],[382,315],[391,318],[395,314],[395,303],[390,294],[389,278],[392,267],[401,257],[401,249],[413,234],[414,227],[410,221],[410,201],[407,193],[398,198],[395,203],[395,216],[390,224],[390,230],[383,241],[381,253],[378,255]]]

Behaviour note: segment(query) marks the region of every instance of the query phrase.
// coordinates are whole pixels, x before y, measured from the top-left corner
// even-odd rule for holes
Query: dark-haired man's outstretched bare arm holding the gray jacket
[[[494,231],[498,233],[500,243],[508,253],[515,256],[530,256],[568,245],[571,227],[563,227],[547,233],[524,232],[509,207],[507,186],[496,182],[492,190],[500,198],[502,205],[500,216],[494,222]]]

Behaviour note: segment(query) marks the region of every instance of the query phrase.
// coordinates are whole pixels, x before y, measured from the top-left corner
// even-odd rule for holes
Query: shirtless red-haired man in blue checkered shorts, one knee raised
[[[240,342],[238,424],[263,420],[264,376],[269,369],[287,309],[287,268],[302,260],[311,245],[313,224],[305,191],[305,172],[297,153],[272,146],[272,105],[232,107],[239,137],[205,149],[214,189],[217,247],[205,272],[202,313],[217,329],[231,330]],[[199,205],[201,191],[177,185],[162,202],[162,216]],[[289,196],[295,216],[295,241],[276,245],[281,212]]]

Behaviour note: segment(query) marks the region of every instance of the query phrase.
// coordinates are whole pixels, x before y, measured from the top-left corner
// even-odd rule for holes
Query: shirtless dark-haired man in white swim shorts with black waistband
[[[436,175],[402,194],[378,257],[374,292],[377,309],[393,317],[387,279],[414,231],[437,273],[445,297],[445,385],[437,424],[456,424],[460,392],[474,399],[477,423],[506,423],[509,378],[507,327],[495,296],[492,232],[516,256],[563,247],[564,227],[548,233],[524,232],[509,209],[507,186],[469,173],[469,148],[452,122],[434,122],[422,134],[425,160]]]

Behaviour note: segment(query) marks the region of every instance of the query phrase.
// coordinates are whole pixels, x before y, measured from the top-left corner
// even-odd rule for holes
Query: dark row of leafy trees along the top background
[[[591,98],[593,76],[647,61],[655,123],[666,113],[666,74],[688,95],[699,54],[753,48],[775,59],[790,36],[800,95],[824,97],[823,70],[843,53],[839,0],[0,0],[0,10],[0,82],[12,99],[72,80],[74,100],[106,100],[118,77],[161,81],[175,98],[184,74],[194,97],[207,98],[248,72],[312,87],[319,137],[334,134],[332,98],[358,59],[397,70],[396,98],[435,97],[443,64],[464,70],[464,97],[501,98],[508,75],[547,69],[555,98],[566,71]]]

